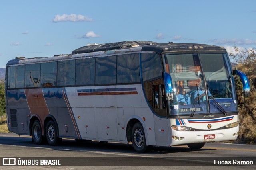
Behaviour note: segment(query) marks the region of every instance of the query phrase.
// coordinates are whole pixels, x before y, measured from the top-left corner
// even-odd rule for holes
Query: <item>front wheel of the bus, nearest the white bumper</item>
[[[145,152],[147,149],[144,129],[140,122],[132,127],[132,146],[136,152]]]

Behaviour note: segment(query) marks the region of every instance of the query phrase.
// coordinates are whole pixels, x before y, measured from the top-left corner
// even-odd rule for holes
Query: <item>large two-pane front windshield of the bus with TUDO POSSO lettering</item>
[[[225,53],[165,54],[173,83],[171,115],[237,111],[227,57]]]

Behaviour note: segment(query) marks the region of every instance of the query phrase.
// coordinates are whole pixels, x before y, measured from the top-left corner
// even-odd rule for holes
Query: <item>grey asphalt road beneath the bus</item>
[[[187,146],[153,147],[136,153],[131,144],[77,143],[63,139],[60,146],[35,145],[32,138],[0,133],[0,158],[59,159],[62,166],[37,166],[36,169],[252,169],[256,168],[256,145],[206,143],[202,149]],[[253,166],[219,166],[233,160],[252,160]],[[222,162],[221,162],[222,161]],[[226,161],[226,162],[225,162]],[[2,160],[0,160],[2,162]],[[236,162],[238,163],[238,161]],[[34,169],[33,166],[0,166],[0,169]]]

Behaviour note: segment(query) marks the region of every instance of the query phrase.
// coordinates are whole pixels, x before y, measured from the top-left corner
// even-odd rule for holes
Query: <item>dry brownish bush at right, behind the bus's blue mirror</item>
[[[235,76],[236,92],[238,93],[238,111],[239,111],[239,135],[237,143],[256,143],[256,48],[240,49],[233,46],[236,54],[230,54],[230,57],[236,61],[236,69],[246,74],[250,81],[250,96],[242,96],[242,82]]]

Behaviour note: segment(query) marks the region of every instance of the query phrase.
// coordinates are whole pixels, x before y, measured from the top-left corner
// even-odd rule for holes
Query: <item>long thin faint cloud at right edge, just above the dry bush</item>
[[[234,44],[234,43],[236,43],[236,45],[254,45],[254,44],[256,44],[256,40],[236,39],[236,38],[222,39],[222,40],[211,39],[211,40],[209,40],[209,42],[214,43],[214,44],[219,44],[219,45]]]

